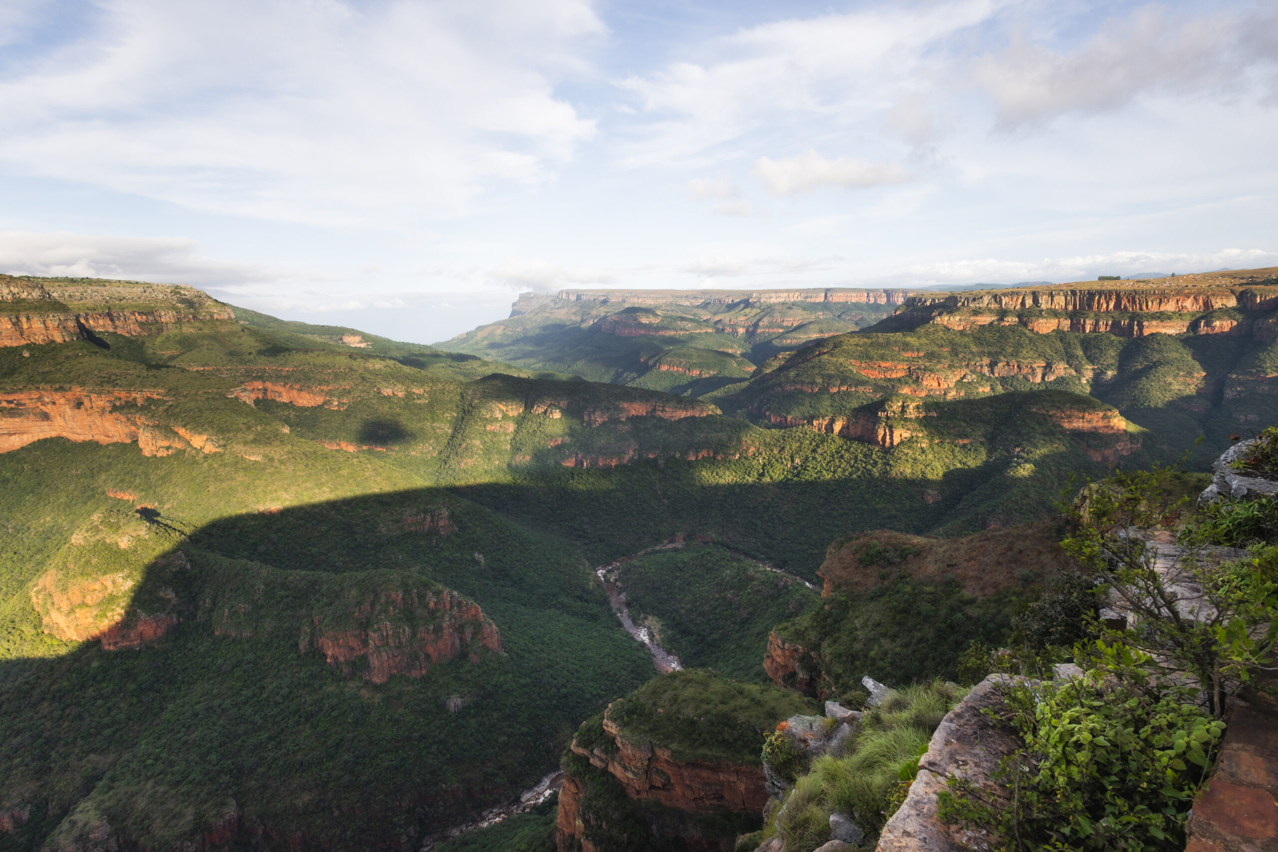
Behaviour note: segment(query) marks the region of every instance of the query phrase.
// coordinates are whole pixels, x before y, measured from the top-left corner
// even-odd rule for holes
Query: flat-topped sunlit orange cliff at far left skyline
[[[234,318],[230,307],[189,286],[0,277],[0,346],[158,335],[183,323]]]

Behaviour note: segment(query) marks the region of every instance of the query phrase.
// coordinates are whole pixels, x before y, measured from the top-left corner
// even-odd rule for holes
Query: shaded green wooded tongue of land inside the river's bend
[[[763,682],[768,632],[817,607],[801,582],[713,544],[689,544],[624,563],[617,581],[635,623],[689,668]]]

